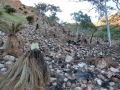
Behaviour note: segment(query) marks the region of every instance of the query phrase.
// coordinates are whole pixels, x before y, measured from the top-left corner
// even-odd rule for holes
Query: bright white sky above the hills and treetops
[[[92,7],[90,3],[87,1],[84,2],[69,2],[69,0],[20,0],[22,4],[25,4],[27,6],[34,6],[35,4],[39,2],[44,2],[47,4],[54,4],[55,6],[59,6],[62,12],[58,12],[57,16],[64,22],[72,23],[72,17],[70,16],[73,12],[78,12],[81,10],[84,14],[87,13],[89,16],[91,16],[92,22],[97,22],[98,16],[97,13],[95,13],[95,10],[92,10],[88,12],[88,10]],[[110,3],[111,5],[113,3]]]

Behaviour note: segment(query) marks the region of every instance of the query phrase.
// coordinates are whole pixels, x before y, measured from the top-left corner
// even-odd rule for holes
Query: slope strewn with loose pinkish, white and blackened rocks
[[[12,21],[8,21],[11,23]],[[39,28],[36,29],[36,24]],[[27,30],[17,33],[23,40],[21,51],[30,50],[30,43],[37,40],[45,62],[50,68],[50,83],[44,90],[119,90],[120,44],[109,47],[102,39],[81,36],[53,22],[44,23],[39,18],[33,25],[24,24]],[[45,27],[44,27],[45,26]],[[45,36],[45,28],[48,37]],[[0,55],[7,40],[0,32]],[[0,75],[5,74],[17,62],[18,57],[7,54],[0,57]]]

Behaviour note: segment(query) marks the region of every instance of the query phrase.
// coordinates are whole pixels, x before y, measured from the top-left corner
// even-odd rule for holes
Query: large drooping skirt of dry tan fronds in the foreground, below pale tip
[[[0,90],[45,90],[49,80],[49,68],[40,51],[28,51],[0,79]]]

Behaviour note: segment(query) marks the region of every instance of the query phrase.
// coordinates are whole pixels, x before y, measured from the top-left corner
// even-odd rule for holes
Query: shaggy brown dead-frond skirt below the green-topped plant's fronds
[[[21,56],[22,51],[20,50],[22,46],[22,39],[20,37],[18,38],[16,35],[10,35],[8,36],[8,39],[6,41],[5,47],[4,47],[4,53],[2,56],[5,56],[6,54],[11,54],[14,56]]]

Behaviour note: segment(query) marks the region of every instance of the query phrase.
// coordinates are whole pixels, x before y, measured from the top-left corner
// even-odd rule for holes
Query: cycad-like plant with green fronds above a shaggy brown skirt
[[[5,52],[3,53],[2,56],[6,54],[13,54],[19,57],[22,54],[20,50],[20,47],[23,44],[22,39],[16,34],[24,28],[25,27],[22,25],[22,23],[8,24],[4,21],[0,21],[0,31],[4,32],[8,36],[4,48]]]

